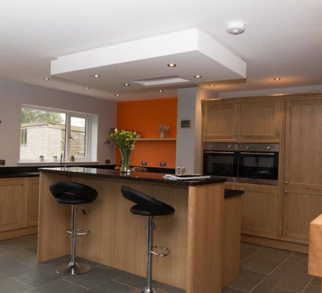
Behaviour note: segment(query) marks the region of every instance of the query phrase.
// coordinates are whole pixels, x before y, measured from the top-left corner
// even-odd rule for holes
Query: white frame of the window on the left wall
[[[34,109],[34,110],[40,110],[40,111],[48,111],[48,112],[56,112],[66,115],[66,122],[65,122],[65,147],[64,147],[64,155],[65,155],[65,162],[71,162],[70,156],[69,156],[69,150],[70,150],[70,138],[69,135],[71,133],[71,117],[75,118],[82,118],[86,119],[86,125],[85,125],[85,154],[84,156],[75,156],[75,162],[89,162],[90,161],[90,129],[91,129],[91,114],[81,113],[81,112],[74,112],[74,111],[68,111],[68,110],[62,110],[57,108],[49,108],[49,107],[41,107],[41,106],[35,106],[35,105],[21,105],[22,108],[28,108],[28,109]],[[21,126],[21,122],[20,122]],[[20,145],[21,147],[21,145]],[[60,158],[58,158],[58,161],[60,161]],[[21,160],[20,162],[39,162],[38,159],[26,159]],[[44,162],[47,163],[53,163],[51,160],[45,160]]]

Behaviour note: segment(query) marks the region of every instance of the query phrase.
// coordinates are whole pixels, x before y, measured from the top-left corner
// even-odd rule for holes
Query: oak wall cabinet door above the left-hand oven
[[[238,104],[203,106],[203,139],[237,140]]]

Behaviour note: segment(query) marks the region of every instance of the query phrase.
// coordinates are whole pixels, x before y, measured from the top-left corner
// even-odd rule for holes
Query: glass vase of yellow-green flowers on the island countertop
[[[121,173],[130,173],[130,156],[134,149],[135,143],[135,132],[127,130],[115,130],[110,134],[112,142],[119,147],[122,162],[121,162]]]

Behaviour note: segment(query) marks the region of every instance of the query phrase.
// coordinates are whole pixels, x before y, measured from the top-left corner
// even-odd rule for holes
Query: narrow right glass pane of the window
[[[79,117],[70,118],[70,151],[74,157],[85,157],[86,150],[86,119]]]

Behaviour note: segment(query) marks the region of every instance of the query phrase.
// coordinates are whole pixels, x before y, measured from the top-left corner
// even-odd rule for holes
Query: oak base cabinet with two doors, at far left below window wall
[[[0,232],[20,229],[25,234],[24,228],[38,225],[39,178],[0,179],[0,203]]]

